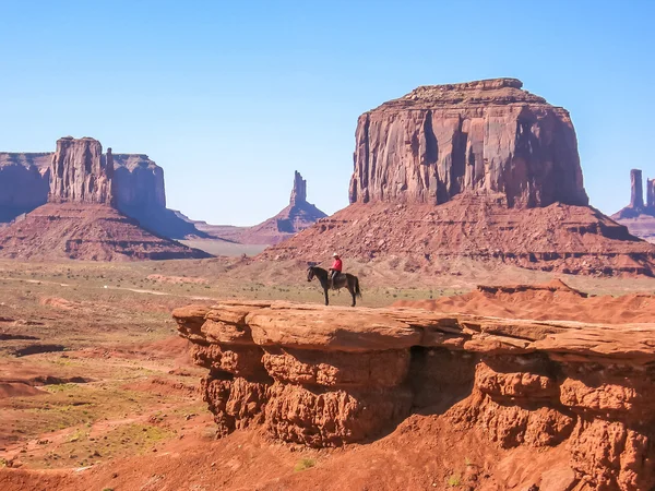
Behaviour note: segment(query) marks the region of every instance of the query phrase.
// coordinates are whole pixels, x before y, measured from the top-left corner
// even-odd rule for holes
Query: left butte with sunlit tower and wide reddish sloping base
[[[0,258],[127,261],[209,256],[142,228],[136,219],[116,208],[114,156],[111,148],[103,154],[97,140],[60,139],[48,170],[35,170],[45,160],[43,156],[4,159],[3,167],[13,169],[10,176],[14,176],[15,170],[19,176],[28,176],[27,182],[37,190],[41,189],[38,184],[47,180],[49,194],[48,203],[0,229]],[[163,184],[163,179],[160,182]],[[133,196],[134,193],[129,191],[130,187],[126,185],[120,195]],[[156,197],[162,202],[163,195]],[[38,204],[39,201],[21,205]]]

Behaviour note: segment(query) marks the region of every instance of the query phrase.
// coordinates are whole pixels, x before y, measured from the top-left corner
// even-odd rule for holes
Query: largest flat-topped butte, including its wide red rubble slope
[[[569,112],[522,86],[422,86],[365,112],[350,205],[260,259],[315,261],[340,250],[412,271],[471,259],[653,275],[655,247],[588,206]]]

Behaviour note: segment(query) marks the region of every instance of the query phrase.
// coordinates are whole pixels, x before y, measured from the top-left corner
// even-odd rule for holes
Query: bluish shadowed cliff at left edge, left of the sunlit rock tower
[[[49,153],[0,153],[0,223],[48,201],[51,157]]]

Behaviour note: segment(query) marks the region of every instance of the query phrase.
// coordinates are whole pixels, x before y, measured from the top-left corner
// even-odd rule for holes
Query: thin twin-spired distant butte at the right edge
[[[628,227],[630,233],[655,243],[655,179],[646,179],[644,203],[642,171],[630,170],[630,204],[611,218]]]

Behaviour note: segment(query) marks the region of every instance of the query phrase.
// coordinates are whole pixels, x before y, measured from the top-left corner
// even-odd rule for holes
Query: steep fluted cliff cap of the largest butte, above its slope
[[[569,112],[522,85],[422,86],[361,115],[350,203],[440,204],[473,191],[510,207],[586,205]]]

